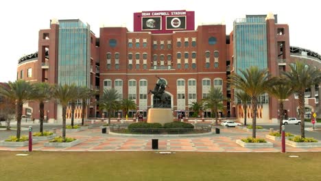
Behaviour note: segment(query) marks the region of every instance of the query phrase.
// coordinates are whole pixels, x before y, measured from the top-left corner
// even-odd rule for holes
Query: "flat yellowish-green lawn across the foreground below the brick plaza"
[[[21,153],[0,152],[1,181],[321,180],[318,152],[32,152],[16,156]]]

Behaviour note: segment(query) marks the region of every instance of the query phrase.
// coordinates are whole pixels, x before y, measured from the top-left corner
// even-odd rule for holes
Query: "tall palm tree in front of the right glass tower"
[[[252,101],[252,137],[257,137],[257,102],[259,95],[265,93],[268,86],[270,74],[267,69],[259,69],[259,67],[250,67],[249,69],[239,70],[239,74],[229,75],[230,80],[228,82],[231,86],[239,90],[243,90],[245,93],[250,95]]]

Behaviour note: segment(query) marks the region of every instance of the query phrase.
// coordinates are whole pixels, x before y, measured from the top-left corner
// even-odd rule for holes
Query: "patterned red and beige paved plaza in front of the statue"
[[[57,134],[61,135],[60,130]],[[265,138],[268,132],[258,132],[257,138]],[[273,143],[272,148],[244,148],[235,143],[237,139],[252,136],[237,128],[220,129],[220,134],[208,136],[159,137],[158,149],[152,149],[152,138],[143,136],[115,136],[102,134],[102,130],[92,128],[81,132],[67,132],[68,137],[78,138],[82,143],[73,147],[44,147],[47,141],[33,144],[34,151],[61,152],[108,152],[108,151],[167,151],[167,152],[281,152],[281,141],[266,141]],[[0,150],[27,151],[28,147],[0,147]],[[286,152],[321,152],[321,147],[296,148],[286,146]]]

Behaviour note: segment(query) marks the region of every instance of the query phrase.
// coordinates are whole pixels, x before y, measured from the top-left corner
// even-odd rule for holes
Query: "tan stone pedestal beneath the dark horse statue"
[[[150,108],[147,114],[147,123],[171,123],[174,120],[170,108]]]

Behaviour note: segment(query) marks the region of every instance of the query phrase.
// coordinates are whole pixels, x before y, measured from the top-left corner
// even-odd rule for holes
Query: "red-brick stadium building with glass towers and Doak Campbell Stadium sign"
[[[289,27],[278,24],[276,15],[236,19],[230,34],[226,34],[224,24],[198,25],[195,29],[194,16],[193,11],[185,10],[136,12],[134,32],[126,27],[101,27],[99,37],[79,19],[51,20],[49,29],[39,31],[38,51],[19,59],[17,79],[87,86],[99,90],[100,95],[106,88],[115,88],[122,98],[133,99],[137,105],[129,117],[137,113],[147,117],[155,101],[149,91],[161,77],[167,84],[165,92],[170,95],[174,116],[191,117],[190,105],[206,97],[211,87],[221,88],[224,96],[234,98],[226,82],[233,71],[254,65],[279,75],[297,60],[321,68],[318,53],[289,46]],[[307,90],[308,111],[320,111],[319,95],[318,85]],[[293,95],[285,101],[286,116],[298,117],[297,98]],[[276,99],[261,95],[258,123],[276,122],[277,105]],[[243,114],[237,100],[226,101],[224,106],[219,117],[252,118],[250,111]],[[62,110],[56,102],[47,102],[45,110],[48,121],[61,120]],[[76,119],[81,111],[79,104]],[[23,112],[38,119],[38,104],[25,104]],[[70,108],[67,113],[70,118]],[[118,113],[125,117],[121,110]],[[102,114],[92,104],[86,111],[88,118]],[[211,110],[204,110],[200,117],[206,119],[211,114]]]

